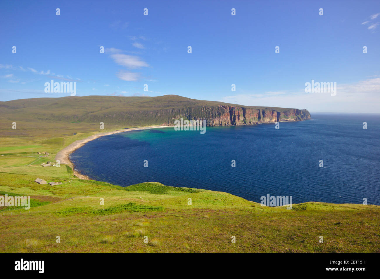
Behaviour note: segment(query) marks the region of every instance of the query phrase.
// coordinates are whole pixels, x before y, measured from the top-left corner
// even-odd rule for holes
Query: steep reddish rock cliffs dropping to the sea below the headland
[[[252,109],[245,107],[224,106],[188,108],[186,112],[178,112],[166,125],[173,125],[174,120],[183,117],[188,120],[206,120],[207,126],[253,125],[258,123],[274,123],[277,121],[302,121],[310,119],[306,109]]]

